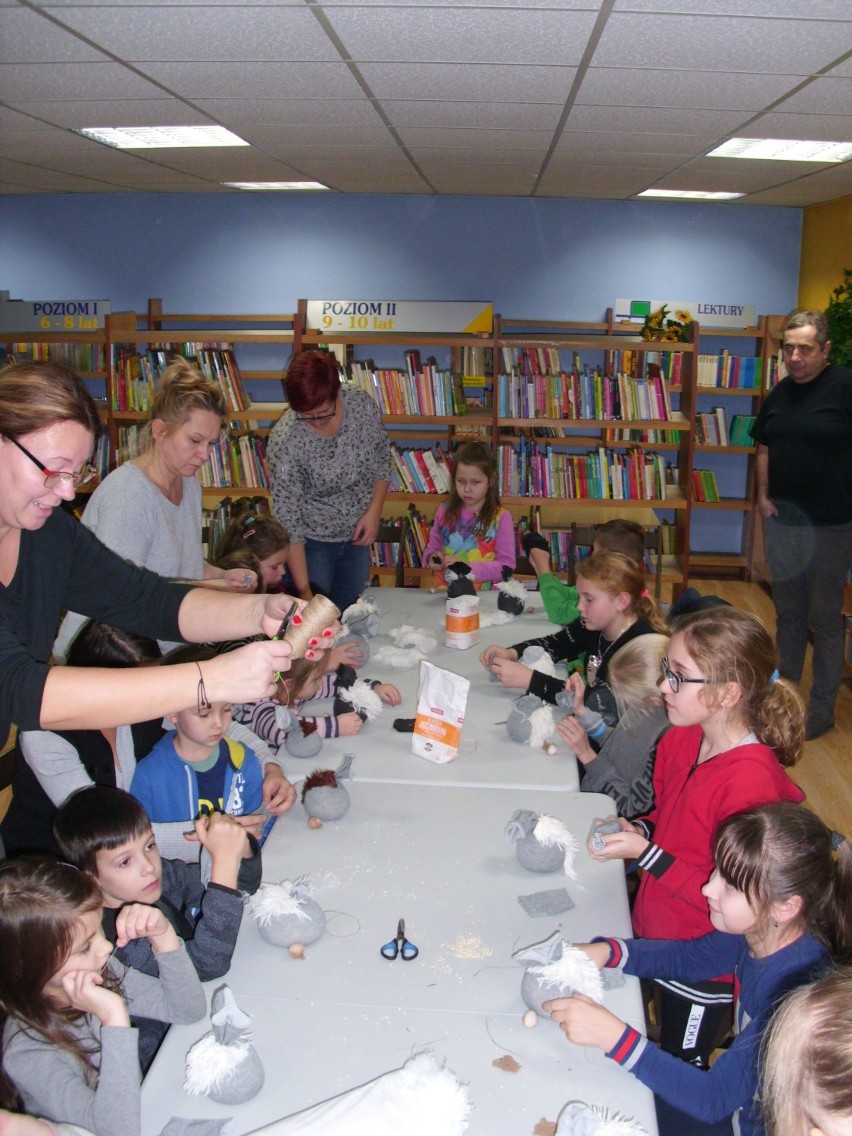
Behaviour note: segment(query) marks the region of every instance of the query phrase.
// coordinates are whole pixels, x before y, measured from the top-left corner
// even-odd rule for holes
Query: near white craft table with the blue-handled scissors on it
[[[523,970],[511,958],[558,927],[576,941],[629,934],[621,866],[598,864],[584,847],[592,819],[610,811],[608,800],[359,782],[351,797],[346,816],[320,829],[307,827],[298,804],[264,850],[266,880],[312,878],[327,933],[294,960],[266,943],[247,917],[223,979],[253,1019],[264,1089],[233,1108],[187,1096],[183,1058],[209,1024],[174,1027],[143,1085],[143,1136],[158,1134],[172,1116],[232,1116],[225,1136],[240,1136],[399,1068],[423,1049],[469,1085],[469,1136],[526,1136],[575,1099],[619,1106],[654,1136],[652,1096],[629,1074],[596,1051],[569,1045],[550,1021],[524,1028]],[[577,835],[576,880],[518,864],[503,830],[519,808],[550,812]],[[563,914],[532,918],[517,901],[560,886],[576,903]],[[379,954],[400,917],[420,950],[411,962]],[[635,979],[605,1001],[642,1026]],[[517,1072],[494,1067],[507,1053]]]

